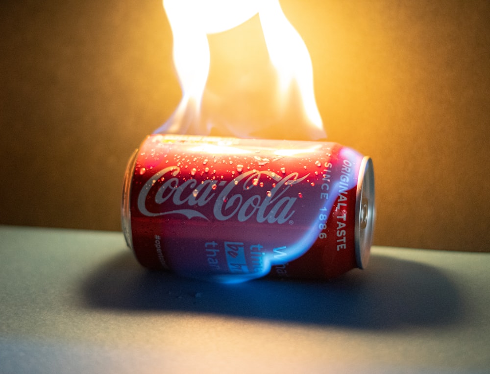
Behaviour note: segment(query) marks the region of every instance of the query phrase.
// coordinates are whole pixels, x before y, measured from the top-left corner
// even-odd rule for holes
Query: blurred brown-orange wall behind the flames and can
[[[373,158],[374,243],[490,251],[490,2],[283,0],[328,139]],[[177,106],[158,0],[1,1],[0,223],[120,230]]]

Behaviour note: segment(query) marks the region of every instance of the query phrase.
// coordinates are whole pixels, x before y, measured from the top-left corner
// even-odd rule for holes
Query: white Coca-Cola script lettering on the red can
[[[196,208],[214,204],[214,217],[220,221],[236,216],[240,222],[255,217],[259,223],[267,221],[281,224],[291,219],[294,214],[292,209],[297,200],[297,197],[288,196],[286,192],[309,175],[298,178],[298,173],[294,172],[281,177],[271,171],[250,170],[231,181],[207,179],[198,182],[196,179],[187,179],[181,183],[176,177],[179,172],[178,166],[169,166],[159,170],[147,180],[138,196],[138,209],[142,214],[148,217],[183,214],[189,219],[200,217],[209,221]],[[256,187],[261,178],[267,177],[275,181],[270,190]],[[160,208],[153,212],[147,208],[147,196],[150,190],[154,191],[155,188],[157,190],[153,202]],[[249,196],[245,200],[240,189],[249,191],[252,188],[260,191],[261,194]],[[163,205],[164,203],[166,204]],[[184,206],[183,209],[172,209],[180,206]],[[169,208],[172,210],[165,210]]]

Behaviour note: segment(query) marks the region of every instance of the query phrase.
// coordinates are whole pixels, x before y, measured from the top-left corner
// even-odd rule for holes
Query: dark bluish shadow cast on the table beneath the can
[[[331,281],[261,279],[227,285],[147,271],[126,252],[96,269],[83,292],[91,308],[366,329],[445,325],[462,313],[455,287],[437,268],[376,254],[367,270]]]

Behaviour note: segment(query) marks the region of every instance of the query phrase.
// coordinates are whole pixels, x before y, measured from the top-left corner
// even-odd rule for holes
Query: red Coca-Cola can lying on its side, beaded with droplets
[[[374,215],[371,159],[333,142],[150,135],[124,178],[138,261],[206,280],[363,269]]]

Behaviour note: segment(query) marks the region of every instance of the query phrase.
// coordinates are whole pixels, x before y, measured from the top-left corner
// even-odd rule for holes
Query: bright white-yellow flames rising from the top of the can
[[[325,138],[314,96],[310,55],[278,0],[164,0],[163,4],[172,28],[173,61],[183,94],[172,117],[157,133]],[[274,87],[264,82],[268,72],[264,64],[263,72],[256,74],[252,83],[249,74],[246,79],[227,82],[225,93],[212,93],[207,88],[211,61],[208,36],[233,29],[257,15],[269,65],[274,68]],[[247,102],[258,90],[266,94]]]

